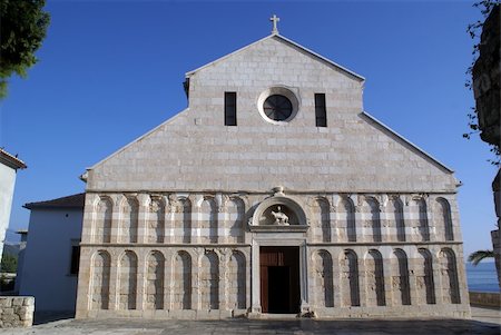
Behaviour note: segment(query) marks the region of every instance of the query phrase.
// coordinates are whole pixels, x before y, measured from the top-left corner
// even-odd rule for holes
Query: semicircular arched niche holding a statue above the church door
[[[285,196],[274,196],[257,206],[249,227],[252,230],[305,230],[308,224],[299,204]]]

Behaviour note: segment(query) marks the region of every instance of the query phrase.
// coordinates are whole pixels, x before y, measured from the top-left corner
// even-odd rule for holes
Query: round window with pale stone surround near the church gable
[[[291,121],[299,109],[297,95],[285,87],[272,87],[259,95],[257,109],[262,117],[275,125]]]

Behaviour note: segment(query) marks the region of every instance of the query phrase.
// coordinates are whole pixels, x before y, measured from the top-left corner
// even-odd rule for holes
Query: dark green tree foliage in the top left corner
[[[17,73],[26,78],[38,59],[50,22],[45,0],[0,0],[0,99],[7,96],[7,79]]]

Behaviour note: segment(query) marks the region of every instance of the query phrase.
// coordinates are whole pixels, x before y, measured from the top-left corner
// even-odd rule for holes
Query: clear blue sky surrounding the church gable
[[[22,205],[84,191],[79,176],[187,106],[185,72],[281,35],[366,78],[365,110],[455,170],[464,252],[491,248],[488,146],[468,131],[473,1],[48,1],[40,61],[12,78],[0,147],[19,154]],[[9,238],[12,235],[9,234]]]

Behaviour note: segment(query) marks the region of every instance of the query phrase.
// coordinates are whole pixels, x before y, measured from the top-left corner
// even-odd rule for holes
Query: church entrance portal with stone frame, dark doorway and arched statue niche
[[[249,221],[253,233],[253,313],[297,314],[308,309],[306,215],[283,193],[262,201]]]

